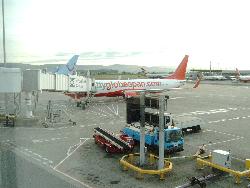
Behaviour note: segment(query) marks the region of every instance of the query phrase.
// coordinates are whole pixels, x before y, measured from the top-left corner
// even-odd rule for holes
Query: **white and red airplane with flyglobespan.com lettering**
[[[131,79],[131,80],[95,80],[94,97],[119,97],[124,98],[137,95],[138,90],[171,90],[179,89],[186,83],[186,68],[188,55],[185,55],[175,72],[163,79]],[[200,78],[195,87],[198,87]],[[85,97],[84,93],[65,93],[73,99]]]

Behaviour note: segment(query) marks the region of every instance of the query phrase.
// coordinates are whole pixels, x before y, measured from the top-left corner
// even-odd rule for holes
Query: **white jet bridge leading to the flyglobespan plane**
[[[89,93],[94,91],[94,80],[89,77],[77,75],[43,73],[40,69],[25,70],[22,72],[19,68],[0,68],[0,94],[19,93],[21,97],[21,92],[24,92],[25,116],[27,118],[33,116],[32,93],[42,91],[81,92],[89,96]],[[21,98],[19,99],[20,101]],[[7,111],[7,106],[9,106],[7,102],[8,100],[5,96],[5,114],[9,114]],[[16,106],[18,106],[17,103]],[[20,109],[20,105],[18,107]]]

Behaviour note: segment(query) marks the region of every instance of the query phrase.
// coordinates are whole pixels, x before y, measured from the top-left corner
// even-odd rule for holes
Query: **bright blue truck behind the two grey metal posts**
[[[165,153],[174,153],[183,151],[184,139],[181,128],[166,127],[165,129]],[[136,124],[128,125],[122,130],[124,134],[132,137],[135,141],[140,141],[140,126]],[[159,129],[158,127],[145,126],[145,145],[150,148],[159,146]]]

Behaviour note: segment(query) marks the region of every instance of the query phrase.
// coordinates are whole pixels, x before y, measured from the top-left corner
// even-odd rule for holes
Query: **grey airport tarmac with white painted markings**
[[[233,167],[244,169],[250,158],[250,87],[247,85],[201,84],[192,89],[170,91],[168,112],[177,116],[196,116],[205,121],[202,132],[185,136],[184,151],[175,156],[193,155],[198,147],[230,150]],[[211,173],[197,170],[195,160],[173,162],[173,171],[160,181],[158,176],[135,178],[132,171],[124,172],[119,165],[122,154],[110,155],[95,145],[93,128],[103,127],[112,132],[126,125],[126,104],[121,98],[96,98],[82,110],[61,93],[43,92],[39,97],[36,117],[46,116],[48,100],[64,109],[62,121],[42,126],[41,117],[34,124],[17,124],[14,128],[0,127],[0,185],[11,187],[176,187],[187,182],[187,177]],[[65,114],[69,114],[70,117]],[[68,119],[76,121],[76,125]],[[3,176],[7,174],[8,176]],[[3,178],[8,177],[8,179]],[[6,183],[7,182],[7,183]],[[236,185],[234,177],[223,176],[207,187],[246,187],[243,179]]]

